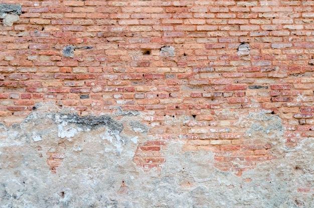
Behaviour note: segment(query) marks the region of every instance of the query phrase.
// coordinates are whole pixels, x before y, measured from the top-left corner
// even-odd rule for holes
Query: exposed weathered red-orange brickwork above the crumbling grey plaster
[[[166,142],[209,150],[237,175],[276,159],[247,141],[265,111],[286,147],[313,136],[313,1],[9,1],[0,22],[0,122],[52,101],[80,116],[137,111],[149,127],[133,161],[165,163]],[[241,163],[234,166],[233,161]]]

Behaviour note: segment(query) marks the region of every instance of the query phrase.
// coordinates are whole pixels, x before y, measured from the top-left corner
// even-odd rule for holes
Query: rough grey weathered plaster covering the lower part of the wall
[[[167,142],[160,170],[138,167],[132,158],[149,139],[134,129],[134,121],[145,125],[140,114],[121,112],[78,117],[45,103],[20,125],[1,125],[0,207],[314,205],[313,189],[300,189],[313,187],[313,139],[287,148],[277,116],[256,112],[239,118],[245,141],[267,140],[276,157],[239,177],[215,168],[211,151],[183,151],[183,140]],[[61,161],[54,170],[52,153],[55,163]]]

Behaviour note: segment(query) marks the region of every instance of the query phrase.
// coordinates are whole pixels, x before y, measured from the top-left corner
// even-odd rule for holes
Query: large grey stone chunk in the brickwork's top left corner
[[[11,27],[14,22],[20,20],[22,6],[15,4],[0,4],[0,19],[3,19],[4,26]]]

